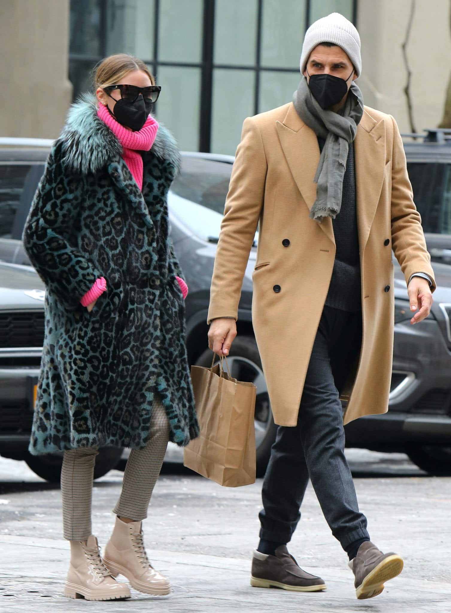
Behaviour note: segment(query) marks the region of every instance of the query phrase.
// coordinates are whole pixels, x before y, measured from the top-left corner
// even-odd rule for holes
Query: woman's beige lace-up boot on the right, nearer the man
[[[103,561],[113,577],[118,574],[127,577],[130,585],[138,592],[162,596],[171,590],[170,582],[149,562],[140,521],[127,524],[116,516]]]

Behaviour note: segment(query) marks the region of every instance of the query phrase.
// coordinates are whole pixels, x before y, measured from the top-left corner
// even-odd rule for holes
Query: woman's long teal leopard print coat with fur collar
[[[180,154],[160,125],[143,152],[140,191],[96,102],[85,95],[70,108],[23,233],[47,287],[33,455],[145,446],[156,392],[170,440],[184,446],[199,435],[175,279],[183,273],[168,233]],[[80,299],[100,276],[107,291],[88,313]]]

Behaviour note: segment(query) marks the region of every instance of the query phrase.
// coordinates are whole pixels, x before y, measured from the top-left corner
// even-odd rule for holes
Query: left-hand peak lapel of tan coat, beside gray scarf
[[[276,128],[290,172],[306,205],[311,210],[316,200],[316,183],[313,179],[320,158],[316,134],[301,120],[294,104],[290,104],[283,123],[276,121]],[[332,219],[324,219],[320,227],[335,244]]]

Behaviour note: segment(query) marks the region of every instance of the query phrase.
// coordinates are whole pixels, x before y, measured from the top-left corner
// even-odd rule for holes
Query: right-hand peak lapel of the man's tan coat
[[[365,250],[381,195],[385,172],[385,123],[366,111],[354,140],[357,226],[360,253]]]

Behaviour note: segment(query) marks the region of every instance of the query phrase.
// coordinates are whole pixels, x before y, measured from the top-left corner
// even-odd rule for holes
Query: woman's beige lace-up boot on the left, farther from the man
[[[64,596],[86,600],[130,598],[128,586],[114,579],[100,558],[94,535],[86,541],[70,541],[70,565]]]

